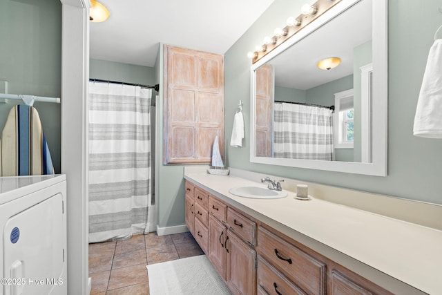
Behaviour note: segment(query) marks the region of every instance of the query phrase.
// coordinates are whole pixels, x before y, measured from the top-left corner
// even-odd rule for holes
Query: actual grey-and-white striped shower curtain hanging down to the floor
[[[89,242],[155,231],[151,89],[89,84]]]

